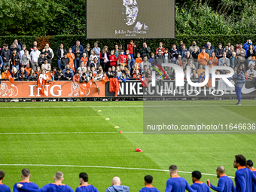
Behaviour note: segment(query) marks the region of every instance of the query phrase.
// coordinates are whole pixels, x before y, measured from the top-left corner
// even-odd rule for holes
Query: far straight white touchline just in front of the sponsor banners
[[[256,105],[138,105],[138,106],[38,106],[38,107],[0,107],[0,108],[168,108],[168,107],[255,107]]]

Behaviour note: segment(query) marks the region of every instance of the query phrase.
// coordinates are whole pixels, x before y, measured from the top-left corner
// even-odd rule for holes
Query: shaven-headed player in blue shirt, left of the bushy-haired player
[[[216,173],[218,177],[218,187],[212,185],[211,181],[207,179],[207,184],[209,187],[211,187],[213,190],[221,192],[236,192],[236,188],[233,184],[232,179],[225,174],[224,166],[218,166],[218,168],[216,169]]]

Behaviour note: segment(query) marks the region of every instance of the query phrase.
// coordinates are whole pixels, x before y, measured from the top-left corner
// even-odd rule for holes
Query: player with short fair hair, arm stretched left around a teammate
[[[69,187],[66,184],[62,184],[62,181],[64,179],[62,172],[56,172],[53,178],[54,183],[46,184],[44,185],[44,187],[41,187],[40,189],[32,189],[29,187],[25,187],[25,184],[20,183],[17,184],[17,187],[28,192],[74,192],[74,190],[72,190],[72,187]]]

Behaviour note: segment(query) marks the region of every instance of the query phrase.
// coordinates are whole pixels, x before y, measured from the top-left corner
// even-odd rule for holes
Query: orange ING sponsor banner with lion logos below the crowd
[[[105,97],[105,84],[98,82],[100,92],[96,84],[87,88],[87,84],[73,83],[72,81],[56,81],[45,85],[45,97]],[[0,84],[0,98],[41,98],[41,88],[37,87],[36,81],[2,81]],[[81,96],[84,95],[84,96]]]

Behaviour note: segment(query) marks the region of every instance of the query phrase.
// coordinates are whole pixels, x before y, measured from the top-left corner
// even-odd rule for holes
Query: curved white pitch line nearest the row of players
[[[104,168],[104,169],[133,169],[133,170],[147,170],[147,171],[157,171],[157,172],[169,172],[169,170],[165,169],[146,169],[146,168],[134,168],[134,167],[118,167],[118,166],[74,166],[74,165],[45,165],[45,164],[0,164],[0,166],[62,166],[62,167],[87,167],[87,168]],[[183,172],[178,171],[181,173],[189,173],[191,172]],[[216,176],[216,174],[210,173],[201,173],[202,175],[212,175]],[[229,176],[230,178],[235,178]]]

